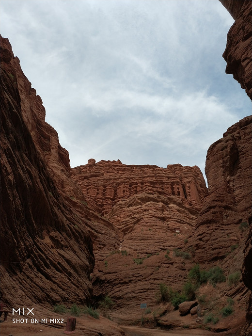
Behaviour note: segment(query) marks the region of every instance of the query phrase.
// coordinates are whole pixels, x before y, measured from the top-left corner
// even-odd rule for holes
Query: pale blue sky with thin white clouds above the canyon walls
[[[210,144],[251,114],[225,74],[234,20],[218,0],[0,0],[0,13],[72,167],[204,171]]]

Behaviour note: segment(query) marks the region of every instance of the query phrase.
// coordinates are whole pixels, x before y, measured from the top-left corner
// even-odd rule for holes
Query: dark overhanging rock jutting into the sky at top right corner
[[[223,53],[227,62],[226,73],[233,74],[252,99],[251,0],[221,0],[221,3],[236,20],[227,34],[227,46]]]

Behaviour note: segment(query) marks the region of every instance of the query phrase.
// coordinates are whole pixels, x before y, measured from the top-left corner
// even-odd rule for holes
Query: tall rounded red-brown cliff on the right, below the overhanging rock
[[[194,234],[195,259],[206,263],[224,259],[230,248],[242,244],[252,207],[252,116],[228,128],[210,146],[205,174],[208,195]]]

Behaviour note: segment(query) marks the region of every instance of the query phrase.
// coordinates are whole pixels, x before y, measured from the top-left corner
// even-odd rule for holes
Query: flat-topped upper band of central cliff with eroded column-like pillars
[[[126,165],[120,160],[95,163],[90,159],[85,166],[71,169],[71,176],[86,195],[88,205],[101,215],[108,214],[118,202],[141,193],[177,196],[199,210],[206,192],[199,168],[181,164],[159,168]]]

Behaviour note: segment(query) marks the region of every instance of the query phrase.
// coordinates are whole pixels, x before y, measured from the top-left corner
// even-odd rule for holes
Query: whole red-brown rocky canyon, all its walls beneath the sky
[[[252,99],[252,2],[220,1],[235,19],[223,53],[226,73]],[[99,319],[77,318],[76,335],[126,335],[122,325],[252,335],[252,116],[209,147],[206,187],[197,166],[179,163],[160,168],[91,158],[71,168],[41,97],[1,36],[0,87],[5,306],[32,306],[43,319],[65,319],[53,312],[57,305],[97,309]],[[219,270],[222,281],[209,275],[196,286],[195,267],[208,275]],[[194,292],[187,290],[182,303],[201,304],[209,323],[174,309],[171,295],[181,298],[186,286]],[[104,309],[106,298],[111,304]],[[228,307],[232,314],[224,316]],[[18,328],[1,323],[0,335],[64,330],[54,322]]]

